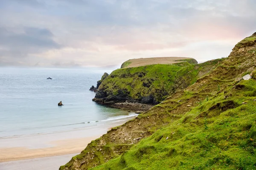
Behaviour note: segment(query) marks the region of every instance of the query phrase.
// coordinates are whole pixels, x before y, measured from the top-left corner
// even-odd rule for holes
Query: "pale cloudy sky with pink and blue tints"
[[[256,32],[255,8],[256,0],[0,0],[0,66],[227,57]]]

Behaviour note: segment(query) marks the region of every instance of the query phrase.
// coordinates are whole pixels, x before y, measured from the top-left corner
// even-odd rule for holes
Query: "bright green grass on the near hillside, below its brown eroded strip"
[[[256,95],[248,95],[256,90],[256,81],[241,81],[241,86],[226,87],[232,94],[228,100],[224,93],[204,100],[118,158],[90,170],[256,169]]]

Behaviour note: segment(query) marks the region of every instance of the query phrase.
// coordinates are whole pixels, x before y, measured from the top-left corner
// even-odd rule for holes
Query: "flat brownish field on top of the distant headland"
[[[197,61],[187,57],[155,57],[155,58],[140,58],[140,59],[129,59],[124,62],[121,68],[140,67],[145,65],[154,64],[174,64],[178,62],[188,61],[190,64],[197,64]]]

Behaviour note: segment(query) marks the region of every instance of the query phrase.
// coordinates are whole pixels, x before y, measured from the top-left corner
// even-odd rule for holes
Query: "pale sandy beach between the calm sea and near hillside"
[[[72,156],[80,153],[92,140],[95,140],[107,133],[112,127],[122,125],[133,117],[122,118],[118,120],[109,120],[105,122],[92,123],[91,126],[79,128],[76,130],[38,134],[32,136],[19,136],[6,139],[0,139],[0,169],[7,170],[17,164],[17,160],[24,160],[17,164],[17,168],[23,165],[26,167],[27,161],[53,161],[58,167],[67,163]],[[60,157],[62,155],[62,157]],[[69,155],[67,157],[67,155]],[[55,157],[54,157],[55,156]],[[46,157],[48,159],[46,159]],[[63,158],[66,158],[65,161]],[[41,158],[41,159],[40,159]],[[44,158],[44,159],[43,159]],[[34,160],[34,161],[33,161]],[[12,164],[10,164],[12,162]],[[32,166],[32,165],[30,165]],[[12,167],[13,169],[14,167]],[[52,169],[54,169],[52,167]],[[9,169],[8,169],[9,170]],[[31,169],[32,170],[32,169]],[[51,168],[48,170],[51,170]]]

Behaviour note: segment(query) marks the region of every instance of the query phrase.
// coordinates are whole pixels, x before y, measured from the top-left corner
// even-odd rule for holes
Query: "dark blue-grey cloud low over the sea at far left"
[[[54,41],[53,34],[46,28],[26,27],[18,33],[9,30],[11,29],[0,28],[0,62],[62,47]]]

